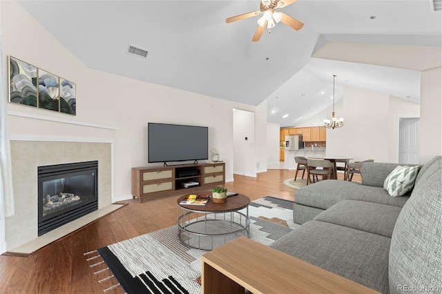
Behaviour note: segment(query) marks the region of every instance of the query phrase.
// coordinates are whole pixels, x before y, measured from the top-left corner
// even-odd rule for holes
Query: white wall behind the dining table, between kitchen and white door
[[[354,160],[397,162],[398,118],[420,116],[418,104],[347,86],[342,103],[335,108],[345,124],[327,129],[327,155],[348,155]]]

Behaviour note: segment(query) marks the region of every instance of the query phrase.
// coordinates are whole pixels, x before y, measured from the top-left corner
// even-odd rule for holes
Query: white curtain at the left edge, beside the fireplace
[[[12,190],[12,166],[8,135],[8,79],[4,72],[7,63],[3,61],[0,23],[0,219],[14,215],[14,191]]]

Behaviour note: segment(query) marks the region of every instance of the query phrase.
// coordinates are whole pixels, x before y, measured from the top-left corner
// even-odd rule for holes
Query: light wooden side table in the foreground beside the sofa
[[[246,237],[202,255],[202,293],[378,293]]]

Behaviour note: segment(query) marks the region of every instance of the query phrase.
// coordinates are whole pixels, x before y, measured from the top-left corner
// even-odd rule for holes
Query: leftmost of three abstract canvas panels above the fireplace
[[[37,68],[9,57],[9,101],[37,107]]]

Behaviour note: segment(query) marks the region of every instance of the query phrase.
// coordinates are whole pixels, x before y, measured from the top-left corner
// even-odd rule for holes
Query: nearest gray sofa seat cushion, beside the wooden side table
[[[270,246],[388,293],[390,238],[327,222],[309,221]]]

